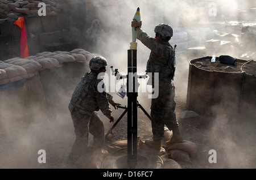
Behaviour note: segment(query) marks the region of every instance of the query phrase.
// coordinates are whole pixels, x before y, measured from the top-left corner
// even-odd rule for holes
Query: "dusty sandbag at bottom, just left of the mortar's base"
[[[101,169],[101,164],[108,155],[109,152],[106,149],[97,149],[90,155],[82,168]]]

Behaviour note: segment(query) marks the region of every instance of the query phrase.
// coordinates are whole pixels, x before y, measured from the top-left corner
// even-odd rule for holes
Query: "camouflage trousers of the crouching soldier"
[[[88,135],[93,135],[93,144],[101,147],[104,144],[104,125],[96,112],[87,113],[81,109],[74,108],[71,112],[73,125],[75,127],[76,140],[69,153],[69,161],[76,162],[85,152],[88,145]]]

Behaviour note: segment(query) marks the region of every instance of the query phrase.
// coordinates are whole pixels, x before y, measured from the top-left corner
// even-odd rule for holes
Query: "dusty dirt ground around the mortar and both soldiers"
[[[181,119],[180,113],[186,110],[185,97],[176,93],[176,115],[184,140],[197,143],[197,156],[191,162],[177,161],[183,169],[208,168],[256,168],[255,119],[216,118],[200,115],[196,118]],[[118,99],[119,100],[119,99]],[[126,100],[123,100],[125,104]],[[141,101],[150,113],[150,103]],[[117,119],[123,109],[114,110]],[[100,113],[99,113],[100,114]],[[101,114],[100,114],[101,115]],[[113,125],[104,116],[106,132]],[[218,123],[216,123],[218,122]],[[115,140],[125,140],[127,136],[126,115],[113,132]],[[152,137],[150,119],[138,109],[138,136],[142,139]],[[90,143],[92,136],[89,136]],[[71,150],[75,134],[69,112],[51,114],[28,126],[0,135],[0,168],[59,169]],[[163,139],[164,143],[164,139]],[[46,151],[46,163],[40,164],[39,149]],[[217,163],[209,163],[209,151],[217,152]],[[81,158],[78,167],[82,165]]]

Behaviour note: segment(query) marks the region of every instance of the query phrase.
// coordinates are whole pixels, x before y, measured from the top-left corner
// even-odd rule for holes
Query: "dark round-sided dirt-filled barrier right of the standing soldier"
[[[231,67],[228,65],[225,68],[226,72],[206,70],[205,65],[197,66],[197,63],[202,60],[209,61],[210,64],[211,58],[197,58],[189,63],[187,109],[207,115],[217,113],[237,115],[246,109],[246,101],[254,104],[255,107],[255,90],[252,92],[253,95],[248,95],[250,88],[255,87],[255,76],[250,76],[249,80],[248,75],[242,70],[229,72],[228,69]],[[247,61],[237,59],[237,62],[240,63],[240,67],[237,68],[241,68]],[[217,63],[219,63],[218,57],[216,58]],[[216,68],[218,67],[220,64],[216,66]]]

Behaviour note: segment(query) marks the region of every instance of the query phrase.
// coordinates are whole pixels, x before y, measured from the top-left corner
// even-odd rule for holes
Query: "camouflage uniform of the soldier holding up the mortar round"
[[[169,130],[179,127],[175,114],[175,86],[172,82],[175,71],[175,51],[169,42],[161,44],[143,30],[138,31],[137,38],[151,50],[146,72],[159,73],[159,87],[155,87],[159,88],[159,96],[151,100],[151,126],[153,139],[160,140],[164,137],[164,125]],[[172,65],[168,64],[169,59]]]

